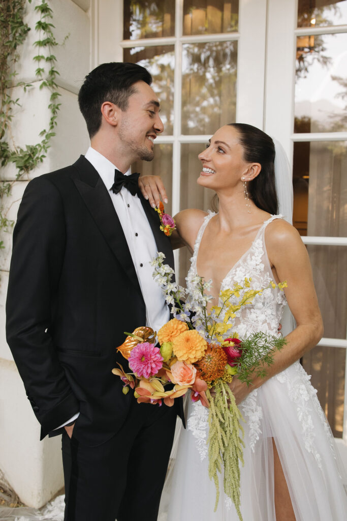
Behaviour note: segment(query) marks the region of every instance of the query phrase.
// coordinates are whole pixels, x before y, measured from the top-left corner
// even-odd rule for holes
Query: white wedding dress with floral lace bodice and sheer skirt
[[[187,287],[193,290],[197,255],[210,213],[199,231]],[[260,289],[273,281],[264,232],[272,220],[264,222],[250,249],[230,269],[222,290],[242,284],[251,277],[251,288]],[[278,334],[285,295],[267,289],[242,308],[235,330],[242,338],[263,331]],[[286,349],[286,348],[284,348]],[[240,404],[245,423],[245,465],[241,467],[241,512],[243,521],[275,521],[273,446],[277,451],[290,492],[297,521],[345,521],[346,493],[342,465],[316,390],[299,362],[265,382]],[[208,476],[208,410],[189,400],[186,431],[181,432],[173,475],[165,486],[169,498],[168,521],[237,521],[233,503],[224,495],[220,480],[220,500],[214,510],[215,487]],[[165,499],[164,499],[165,500]],[[163,500],[163,501],[164,501]],[[164,506],[164,505],[162,505]],[[166,510],[166,505],[161,512]],[[165,519],[161,514],[160,519]]]

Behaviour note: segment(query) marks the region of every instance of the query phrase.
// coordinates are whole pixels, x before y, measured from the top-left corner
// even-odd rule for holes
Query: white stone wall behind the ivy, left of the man
[[[30,81],[27,93],[17,89],[21,107],[16,107],[13,135],[18,145],[40,141],[38,133],[48,127],[49,92],[40,90],[35,78],[37,65],[32,60],[37,54],[33,43],[38,40],[34,30],[38,14],[34,7],[38,0],[28,3],[26,21],[32,28],[20,49],[17,68],[18,81]],[[57,83],[61,103],[57,119],[57,135],[52,139],[43,164],[30,172],[29,178],[14,183],[11,196],[5,198],[7,217],[16,220],[21,196],[30,178],[73,163],[86,151],[89,140],[77,102],[80,85],[91,70],[91,0],[49,0],[53,9],[54,34],[59,43],[53,49],[60,73]],[[9,165],[2,169],[2,180],[14,180],[16,169]],[[18,375],[16,365],[5,339],[5,301],[11,256],[11,233],[3,233],[5,249],[0,251],[0,468],[21,501],[40,507],[63,486],[60,437],[45,438],[40,442],[40,425],[32,412]],[[25,291],[25,288],[23,288]]]

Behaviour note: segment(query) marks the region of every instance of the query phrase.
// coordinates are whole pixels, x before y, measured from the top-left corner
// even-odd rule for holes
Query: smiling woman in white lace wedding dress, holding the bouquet
[[[219,212],[188,209],[175,216],[173,247],[192,253],[187,277],[212,279],[217,305],[220,290],[251,277],[251,287],[287,281],[257,295],[242,308],[235,330],[242,338],[255,331],[277,333],[282,309],[289,304],[297,327],[274,356],[266,377],[250,387],[230,383],[245,423],[245,464],[241,467],[243,521],[343,521],[347,500],[338,454],[329,425],[299,363],[323,334],[309,257],[299,233],[278,213],[276,185],[284,199],[281,172],[274,173],[275,148],[267,134],[244,124],[226,125],[199,154],[198,183],[219,197]],[[290,191],[288,185],[287,190]],[[173,475],[165,486],[168,521],[236,521],[232,502],[208,477],[208,410],[189,400],[187,430],[181,434]],[[223,490],[221,477],[220,489]]]

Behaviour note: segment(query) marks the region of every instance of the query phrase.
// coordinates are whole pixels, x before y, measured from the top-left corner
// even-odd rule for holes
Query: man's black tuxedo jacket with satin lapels
[[[158,214],[141,201],[158,251],[173,267]],[[99,444],[122,426],[132,392],[112,375],[124,331],[146,308],[108,191],[81,156],[28,184],[14,230],[6,303],[7,342],[41,438],[80,411],[74,436]]]

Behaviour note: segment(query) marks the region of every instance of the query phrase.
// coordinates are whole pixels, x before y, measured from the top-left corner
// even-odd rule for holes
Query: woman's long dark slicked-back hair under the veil
[[[229,123],[239,134],[243,147],[243,159],[248,163],[260,163],[261,172],[248,183],[248,195],[253,203],[268,212],[278,213],[275,184],[275,145],[269,135],[247,123]]]

